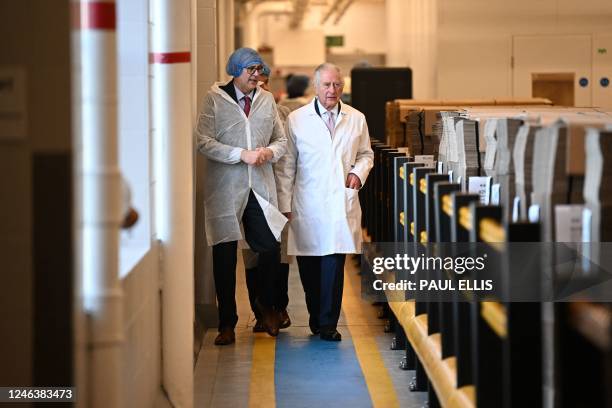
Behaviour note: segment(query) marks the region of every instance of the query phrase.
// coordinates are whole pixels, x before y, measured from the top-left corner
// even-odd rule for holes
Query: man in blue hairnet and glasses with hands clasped
[[[207,158],[204,188],[205,227],[212,246],[219,307],[215,344],[235,341],[237,242],[246,240],[258,254],[256,305],[268,334],[276,336],[274,308],[279,238],[286,218],[278,211],[272,164],[284,154],[287,139],[274,97],[258,86],[263,69],[259,54],[239,48],[226,72],[233,78],[206,94],[195,133]]]

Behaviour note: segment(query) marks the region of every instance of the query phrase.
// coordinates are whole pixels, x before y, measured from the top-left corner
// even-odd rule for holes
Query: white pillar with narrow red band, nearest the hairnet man
[[[161,246],[162,384],[193,406],[191,1],[151,0],[154,231]]]

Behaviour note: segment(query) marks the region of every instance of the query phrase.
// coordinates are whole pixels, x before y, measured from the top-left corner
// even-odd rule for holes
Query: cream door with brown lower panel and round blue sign
[[[514,36],[512,88],[515,98],[533,97],[533,82],[543,74],[573,77],[575,106],[591,106],[591,35]],[[612,50],[611,50],[612,52]]]

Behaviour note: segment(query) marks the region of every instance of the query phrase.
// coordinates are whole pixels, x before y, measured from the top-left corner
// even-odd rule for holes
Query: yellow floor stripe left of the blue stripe
[[[274,359],[276,337],[266,333],[253,335],[253,363],[251,366],[251,385],[249,388],[250,408],[274,408]]]

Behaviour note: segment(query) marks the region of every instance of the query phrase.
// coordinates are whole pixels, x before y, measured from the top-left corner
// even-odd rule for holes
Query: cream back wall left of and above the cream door
[[[604,0],[439,0],[438,97],[511,97],[513,35],[610,31]]]

